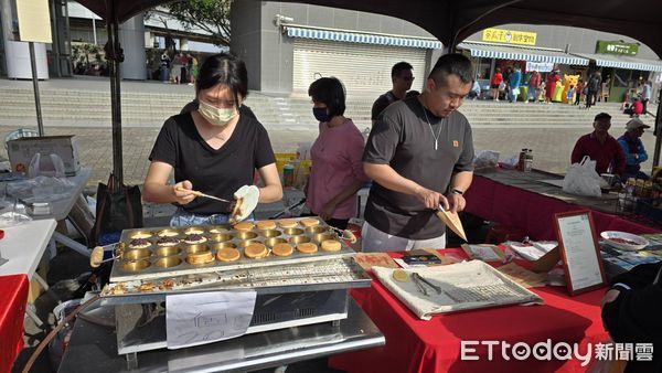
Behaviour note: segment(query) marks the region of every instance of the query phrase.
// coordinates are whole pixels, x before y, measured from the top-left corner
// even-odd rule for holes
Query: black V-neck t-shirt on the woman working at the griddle
[[[166,120],[149,160],[171,164],[175,182],[190,180],[194,190],[228,201],[237,189],[253,184],[256,169],[276,162],[269,135],[256,119],[239,115],[229,139],[214,150],[197,132],[191,114]],[[196,214],[228,212],[227,203],[204,198],[182,207]]]

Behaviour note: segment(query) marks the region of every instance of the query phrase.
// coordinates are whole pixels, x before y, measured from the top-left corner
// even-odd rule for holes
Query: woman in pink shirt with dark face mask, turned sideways
[[[310,149],[312,169],[306,201],[327,224],[344,230],[356,215],[356,192],[369,180],[363,173],[363,136],[352,119],[343,117],[345,94],[339,79],[319,78],[308,95],[320,135]]]

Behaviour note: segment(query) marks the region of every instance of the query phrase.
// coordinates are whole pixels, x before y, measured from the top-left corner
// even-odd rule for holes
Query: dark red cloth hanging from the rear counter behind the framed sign
[[[526,231],[534,239],[556,239],[554,214],[587,209],[555,198],[504,185],[488,178],[476,175],[467,191],[466,211],[484,220],[503,225],[514,225]],[[592,211],[596,231],[623,231],[634,234],[658,231],[619,217]]]

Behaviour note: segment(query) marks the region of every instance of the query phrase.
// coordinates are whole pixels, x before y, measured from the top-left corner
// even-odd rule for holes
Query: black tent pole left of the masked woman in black
[[[110,109],[113,118],[113,175],[117,185],[124,182],[122,170],[122,142],[121,142],[121,102],[120,102],[120,63],[124,61],[124,51],[119,45],[117,14],[115,13],[116,0],[106,1],[107,9],[113,9],[113,17],[107,22],[108,42],[106,43],[106,60],[110,62]]]

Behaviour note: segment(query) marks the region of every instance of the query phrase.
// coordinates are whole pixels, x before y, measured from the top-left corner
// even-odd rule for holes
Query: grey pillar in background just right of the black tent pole
[[[145,54],[142,13],[119,25],[119,42],[125,54],[125,61],[120,67],[121,77],[145,81],[147,78],[147,56]]]

